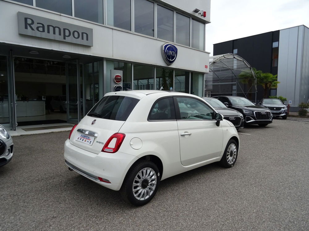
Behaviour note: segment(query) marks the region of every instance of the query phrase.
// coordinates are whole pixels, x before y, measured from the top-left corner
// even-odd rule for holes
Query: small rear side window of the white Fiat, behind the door
[[[148,120],[176,120],[173,98],[157,100],[150,110]]]

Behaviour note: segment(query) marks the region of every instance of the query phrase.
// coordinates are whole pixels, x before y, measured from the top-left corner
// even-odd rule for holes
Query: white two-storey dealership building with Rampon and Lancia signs
[[[210,0],[0,0],[0,124],[78,123],[110,91],[204,95]]]

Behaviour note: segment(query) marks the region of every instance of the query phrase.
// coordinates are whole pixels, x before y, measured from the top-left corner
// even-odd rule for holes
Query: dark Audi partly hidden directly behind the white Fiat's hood
[[[218,113],[222,114],[225,120],[228,120],[232,124],[234,124],[236,129],[243,128],[243,114],[234,109],[228,108],[218,99],[210,97],[202,97],[202,99],[204,99],[207,103],[214,107]]]

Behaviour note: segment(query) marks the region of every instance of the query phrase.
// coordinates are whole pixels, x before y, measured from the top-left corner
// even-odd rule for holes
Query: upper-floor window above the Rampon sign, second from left
[[[36,6],[72,16],[72,0],[36,0]]]

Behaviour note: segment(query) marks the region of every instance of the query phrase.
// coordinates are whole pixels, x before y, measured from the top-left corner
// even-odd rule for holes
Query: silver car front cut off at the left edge
[[[13,140],[9,132],[0,124],[0,166],[9,163],[13,156]]]

